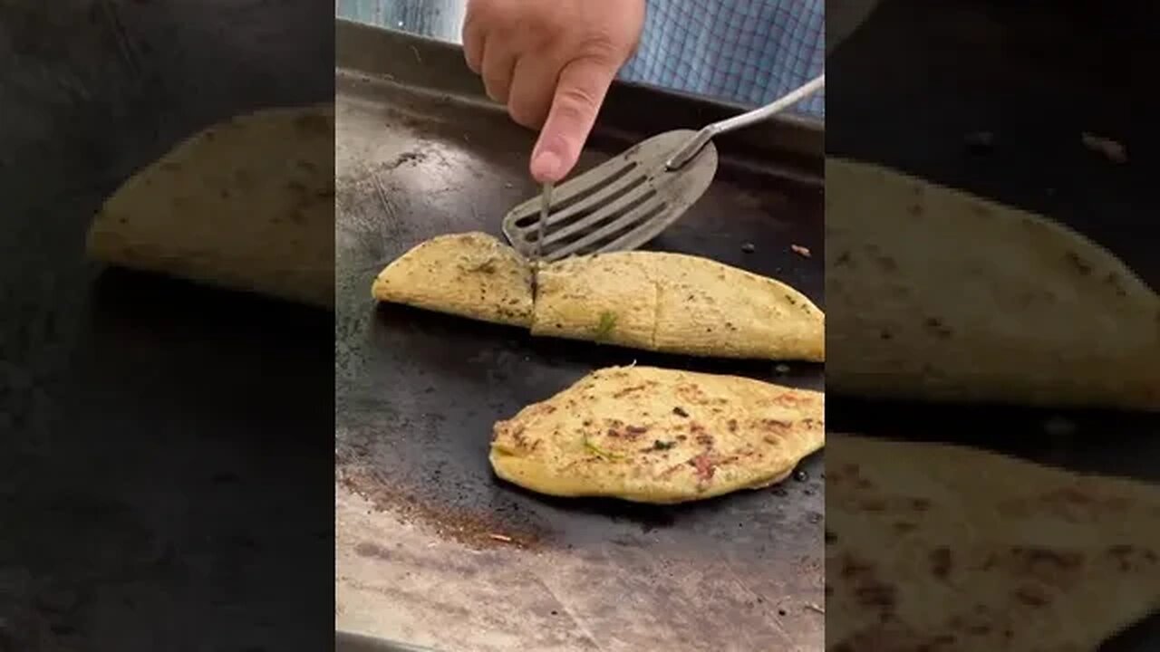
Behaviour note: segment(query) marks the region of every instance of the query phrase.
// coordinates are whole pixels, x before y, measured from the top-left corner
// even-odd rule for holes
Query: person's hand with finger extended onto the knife
[[[512,119],[542,126],[529,166],[537,182],[575,166],[644,19],[645,0],[467,1],[467,65]]]

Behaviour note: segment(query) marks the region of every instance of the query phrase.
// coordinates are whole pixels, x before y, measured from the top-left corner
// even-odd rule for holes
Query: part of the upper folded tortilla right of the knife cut
[[[825,316],[784,283],[708,259],[614,252],[539,273],[534,335],[665,353],[821,362]]]

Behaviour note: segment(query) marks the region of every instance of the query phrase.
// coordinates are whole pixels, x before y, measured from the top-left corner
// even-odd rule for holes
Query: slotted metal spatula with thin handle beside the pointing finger
[[[635,249],[676,222],[712,183],[712,138],[766,119],[813,95],[822,74],[784,97],[701,131],[667,131],[512,209],[503,234],[521,254],[551,262]],[[546,220],[542,215],[546,213]]]

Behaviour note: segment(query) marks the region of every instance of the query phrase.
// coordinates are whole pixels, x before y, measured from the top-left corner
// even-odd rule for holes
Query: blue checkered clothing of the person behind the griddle
[[[465,0],[335,0],[338,15],[458,41]],[[763,104],[821,74],[825,0],[648,0],[621,78]],[[824,117],[824,93],[790,109]]]

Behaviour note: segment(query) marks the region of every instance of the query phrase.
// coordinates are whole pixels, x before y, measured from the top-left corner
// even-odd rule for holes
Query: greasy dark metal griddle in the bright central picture
[[[502,215],[537,191],[534,135],[483,99],[457,48],[338,29],[339,629],[463,650],[819,649],[820,456],[777,487],[659,507],[538,497],[498,480],[487,450],[498,419],[601,367],[813,389],[821,367],[651,355],[376,306],[371,281],[409,247],[500,234]],[[615,88],[580,168],[735,110]],[[650,248],[777,277],[824,305],[820,125],[781,122],[718,146],[709,193]],[[507,589],[471,596],[487,584]]]

